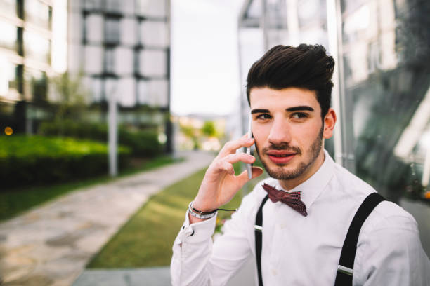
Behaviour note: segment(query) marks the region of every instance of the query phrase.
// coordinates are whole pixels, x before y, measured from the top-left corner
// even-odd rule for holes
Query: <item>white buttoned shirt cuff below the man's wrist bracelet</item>
[[[208,238],[210,238],[215,231],[216,225],[216,215],[210,219],[206,219],[202,222],[195,222],[190,224],[190,219],[188,218],[188,210],[185,214],[185,222],[181,226],[181,231],[179,231],[176,237],[175,243],[200,243]]]

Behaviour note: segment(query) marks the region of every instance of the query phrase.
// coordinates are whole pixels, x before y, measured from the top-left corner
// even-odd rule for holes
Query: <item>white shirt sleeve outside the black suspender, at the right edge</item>
[[[365,231],[355,263],[355,286],[430,285],[430,261],[419,240],[417,222],[408,213],[379,219],[371,231]]]

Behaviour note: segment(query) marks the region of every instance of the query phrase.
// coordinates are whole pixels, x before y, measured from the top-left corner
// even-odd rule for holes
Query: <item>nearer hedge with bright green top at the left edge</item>
[[[130,150],[119,147],[119,166]],[[107,146],[100,142],[39,135],[0,136],[2,186],[45,184],[107,172]]]

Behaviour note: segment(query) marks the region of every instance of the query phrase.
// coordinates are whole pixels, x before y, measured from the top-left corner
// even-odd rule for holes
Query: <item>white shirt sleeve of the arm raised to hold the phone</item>
[[[240,209],[223,226],[212,243],[216,217],[191,224],[188,212],[173,246],[172,285],[226,285],[251,254],[247,240],[245,197]],[[245,205],[245,207],[244,207]]]

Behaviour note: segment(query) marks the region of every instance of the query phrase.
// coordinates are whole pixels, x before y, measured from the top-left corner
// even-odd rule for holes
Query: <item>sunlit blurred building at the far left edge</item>
[[[64,1],[0,0],[0,128],[32,132],[33,120],[44,117],[49,97],[48,77],[56,73],[65,45],[56,37],[53,15]],[[61,42],[61,43],[60,43]],[[57,62],[56,62],[57,61]]]

